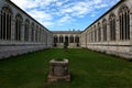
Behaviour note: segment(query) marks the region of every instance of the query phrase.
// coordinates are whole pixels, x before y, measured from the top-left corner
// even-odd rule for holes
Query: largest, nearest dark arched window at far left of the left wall
[[[1,10],[1,29],[0,29],[0,38],[1,40],[11,40],[11,10],[7,7],[3,7]]]

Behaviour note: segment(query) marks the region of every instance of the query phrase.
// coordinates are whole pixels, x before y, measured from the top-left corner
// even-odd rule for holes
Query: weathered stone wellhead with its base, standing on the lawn
[[[70,75],[68,72],[68,59],[50,62],[50,75],[48,81],[70,81]]]

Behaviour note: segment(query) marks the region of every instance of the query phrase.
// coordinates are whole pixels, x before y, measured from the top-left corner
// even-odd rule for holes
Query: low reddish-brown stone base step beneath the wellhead
[[[48,75],[48,81],[70,81],[70,75],[66,75],[66,76],[53,76],[53,75]]]

